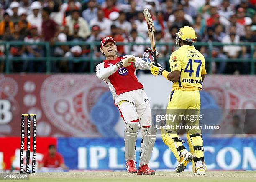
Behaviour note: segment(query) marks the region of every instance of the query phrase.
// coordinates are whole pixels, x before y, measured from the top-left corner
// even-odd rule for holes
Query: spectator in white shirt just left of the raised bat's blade
[[[133,31],[134,35],[137,34],[137,32],[139,32],[140,36],[148,37],[148,27],[143,12],[138,12],[138,19],[134,21],[134,24],[136,25],[137,28],[136,32]]]

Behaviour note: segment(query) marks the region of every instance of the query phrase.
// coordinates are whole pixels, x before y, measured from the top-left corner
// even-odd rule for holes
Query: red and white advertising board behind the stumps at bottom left
[[[25,137],[24,153],[26,153]],[[31,152],[32,152],[31,137]],[[10,170],[19,169],[20,167],[20,137],[0,137],[0,169]],[[36,160],[41,161],[43,155],[48,151],[49,145],[56,145],[57,139],[52,137],[36,138]],[[30,156],[32,160],[32,156]],[[2,161],[1,161],[2,160]],[[24,160],[25,162],[25,160]],[[38,162],[37,162],[38,163]],[[31,166],[31,165],[30,165]]]

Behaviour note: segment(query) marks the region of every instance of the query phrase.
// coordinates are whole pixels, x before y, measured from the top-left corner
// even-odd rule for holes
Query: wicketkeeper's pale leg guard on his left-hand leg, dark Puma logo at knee
[[[135,143],[138,135],[138,122],[126,123],[125,140],[125,160],[135,160]]]

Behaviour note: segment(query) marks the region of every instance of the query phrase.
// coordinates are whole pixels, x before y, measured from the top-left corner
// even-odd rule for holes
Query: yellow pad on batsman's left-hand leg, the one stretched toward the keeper
[[[180,146],[184,147],[184,146],[182,142],[174,142],[174,139],[173,139],[173,138],[179,138],[179,135],[177,133],[168,134],[164,129],[161,129],[161,135],[162,135],[162,140],[164,144],[167,145],[172,150],[172,153],[174,154],[176,159],[179,161],[180,156],[177,151],[177,147],[180,147]]]

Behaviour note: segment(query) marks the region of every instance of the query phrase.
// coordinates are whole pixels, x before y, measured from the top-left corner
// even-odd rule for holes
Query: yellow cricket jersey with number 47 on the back
[[[205,57],[193,45],[183,45],[170,56],[171,71],[181,71],[179,81],[172,90],[202,89],[202,75],[206,74]]]

